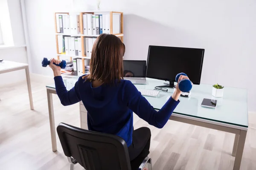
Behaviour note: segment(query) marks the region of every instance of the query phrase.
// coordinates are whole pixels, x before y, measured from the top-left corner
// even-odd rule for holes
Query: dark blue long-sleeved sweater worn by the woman
[[[155,111],[128,80],[93,88],[91,82],[79,77],[70,91],[67,91],[61,76],[54,77],[54,80],[62,105],[83,102],[89,130],[120,136],[127,146],[132,143],[133,112],[150,125],[162,128],[179,103],[170,97],[159,111]]]

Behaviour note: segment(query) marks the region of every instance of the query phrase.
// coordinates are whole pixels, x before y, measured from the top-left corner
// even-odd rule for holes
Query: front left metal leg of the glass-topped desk
[[[49,109],[49,121],[50,121],[50,130],[52,138],[52,151],[57,151],[56,143],[56,133],[55,133],[55,121],[54,121],[54,112],[53,112],[53,102],[52,102],[52,93],[47,89],[47,100],[48,100],[48,109]]]

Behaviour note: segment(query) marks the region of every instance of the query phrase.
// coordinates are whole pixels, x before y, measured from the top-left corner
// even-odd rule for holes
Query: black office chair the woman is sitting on
[[[70,170],[79,163],[85,170],[142,170],[148,163],[148,150],[130,162],[125,141],[116,135],[81,129],[65,123],[57,127],[61,146],[70,162]]]

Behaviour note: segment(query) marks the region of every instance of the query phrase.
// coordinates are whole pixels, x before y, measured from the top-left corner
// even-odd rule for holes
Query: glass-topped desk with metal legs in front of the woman
[[[67,90],[73,88],[78,77],[64,80]],[[155,86],[164,85],[164,81],[147,78],[147,85],[135,85],[138,89],[153,90]],[[48,85],[47,96],[50,93],[56,94],[55,85]],[[159,110],[172,95],[173,89],[169,88],[168,92],[160,91],[158,97],[145,96],[148,102]],[[50,97],[51,98],[51,97]],[[215,109],[201,107],[201,102],[204,98],[217,99]],[[48,97],[48,104],[49,99]],[[82,105],[82,104],[81,104]],[[53,115],[52,103],[49,104],[50,118]],[[52,111],[52,113],[50,113]],[[52,118],[54,119],[54,118]],[[224,88],[224,96],[215,98],[212,96],[212,85],[201,84],[193,85],[190,97],[180,97],[180,103],[172,113],[170,120],[184,122],[191,125],[208,127],[216,130],[221,130],[229,133],[235,133],[235,141],[233,145],[232,156],[236,156],[234,169],[239,169],[241,164],[244,142],[248,128],[248,111],[247,111],[247,90],[241,88]],[[51,122],[51,120],[50,120]],[[54,122],[53,122],[53,127]],[[55,129],[54,133],[55,133]],[[54,135],[55,138],[55,135]],[[56,139],[55,139],[56,140]],[[56,144],[55,144],[56,145]],[[57,147],[53,149],[56,151]]]

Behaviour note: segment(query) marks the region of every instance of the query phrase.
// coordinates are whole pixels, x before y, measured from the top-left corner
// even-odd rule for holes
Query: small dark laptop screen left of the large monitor
[[[123,60],[124,77],[146,77],[145,60]]]

